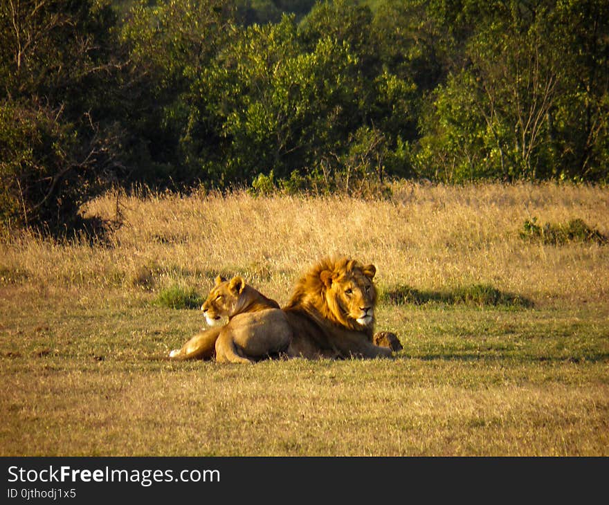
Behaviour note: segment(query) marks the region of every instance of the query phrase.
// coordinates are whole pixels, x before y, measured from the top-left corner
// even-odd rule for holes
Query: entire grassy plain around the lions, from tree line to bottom
[[[0,245],[0,455],[609,455],[609,191],[394,187],[390,199],[122,196],[91,244]],[[109,194],[88,212],[108,219]],[[241,274],[287,302],[324,255],[377,267],[394,360],[156,359]],[[194,300],[192,304],[196,304]]]

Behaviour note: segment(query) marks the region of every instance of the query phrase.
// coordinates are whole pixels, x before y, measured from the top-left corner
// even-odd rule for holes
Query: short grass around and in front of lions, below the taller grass
[[[159,359],[198,311],[67,293],[4,290],[2,456],[608,455],[606,306],[385,305],[394,360],[244,366]]]

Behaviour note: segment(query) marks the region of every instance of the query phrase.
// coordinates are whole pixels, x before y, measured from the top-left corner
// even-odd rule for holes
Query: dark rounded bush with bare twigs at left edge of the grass
[[[0,223],[53,234],[83,228],[82,204],[113,178],[112,143],[48,107],[0,103]]]

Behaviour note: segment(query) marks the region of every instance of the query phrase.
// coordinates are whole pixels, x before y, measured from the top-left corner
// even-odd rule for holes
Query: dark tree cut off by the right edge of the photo
[[[564,92],[548,115],[555,175],[609,181],[609,5],[557,2],[549,23],[565,69]]]

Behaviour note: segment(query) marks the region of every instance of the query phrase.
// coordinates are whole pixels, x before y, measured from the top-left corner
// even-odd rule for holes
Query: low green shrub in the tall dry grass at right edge
[[[561,246],[569,242],[607,244],[609,239],[596,228],[588,226],[583,219],[572,219],[567,223],[538,223],[537,218],[527,219],[520,230],[520,237],[541,241],[543,244]]]

